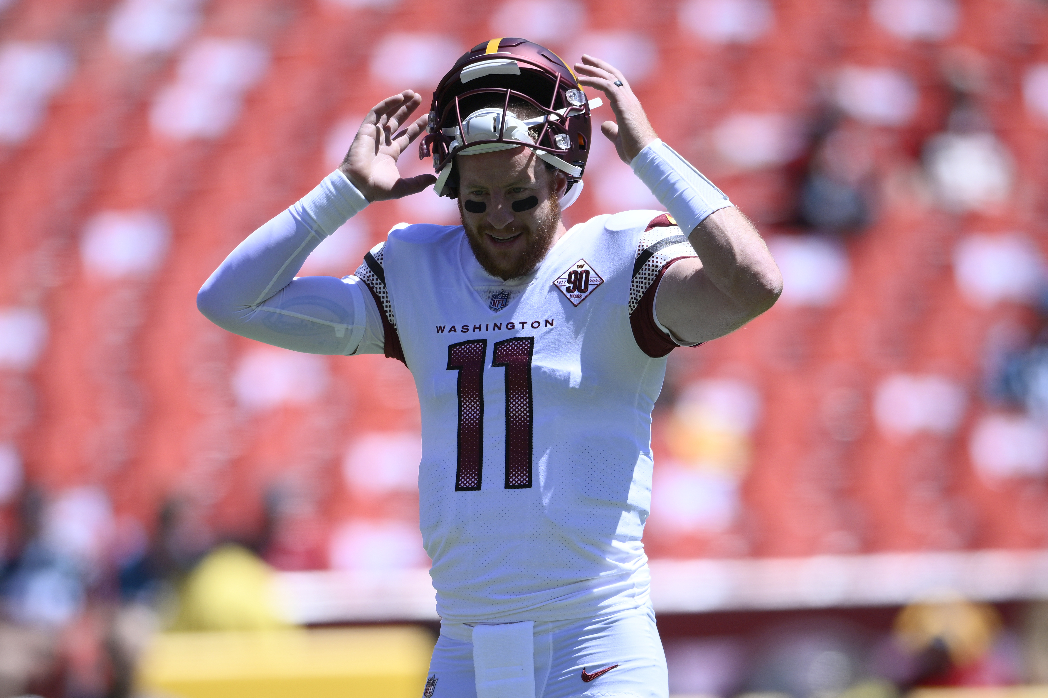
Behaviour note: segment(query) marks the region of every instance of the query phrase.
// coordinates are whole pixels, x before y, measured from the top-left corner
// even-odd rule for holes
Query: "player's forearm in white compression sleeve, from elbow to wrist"
[[[230,253],[201,287],[197,307],[212,318],[259,306],[287,286],[309,253],[366,205],[344,175],[328,175]]]

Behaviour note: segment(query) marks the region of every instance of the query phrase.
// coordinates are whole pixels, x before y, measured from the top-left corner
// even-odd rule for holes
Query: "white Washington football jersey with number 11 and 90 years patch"
[[[366,255],[356,276],[384,313],[386,354],[418,388],[441,617],[647,603],[651,413],[676,346],[654,297],[667,267],[694,255],[659,211],[576,225],[510,282],[480,267],[461,226],[398,227]]]

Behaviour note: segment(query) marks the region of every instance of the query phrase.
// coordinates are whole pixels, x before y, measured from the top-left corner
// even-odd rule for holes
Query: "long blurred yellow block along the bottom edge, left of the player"
[[[433,645],[411,626],[165,633],[138,683],[171,698],[416,698]]]

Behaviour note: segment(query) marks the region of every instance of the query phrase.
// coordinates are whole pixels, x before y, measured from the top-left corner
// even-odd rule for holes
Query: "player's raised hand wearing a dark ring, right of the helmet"
[[[583,53],[582,63],[575,64],[575,73],[580,83],[595,87],[608,95],[608,103],[615,113],[617,123],[605,121],[601,125],[601,131],[608,140],[615,143],[623,162],[630,164],[637,153],[658,138],[640,100],[630,89],[630,83],[618,68],[587,53]]]

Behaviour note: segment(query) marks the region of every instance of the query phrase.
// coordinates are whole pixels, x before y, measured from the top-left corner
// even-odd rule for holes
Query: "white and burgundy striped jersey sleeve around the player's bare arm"
[[[655,316],[655,295],[662,275],[675,262],[697,256],[687,237],[669,213],[654,218],[640,235],[630,282],[630,327],[637,346],[650,357],[663,357],[677,342]]]

